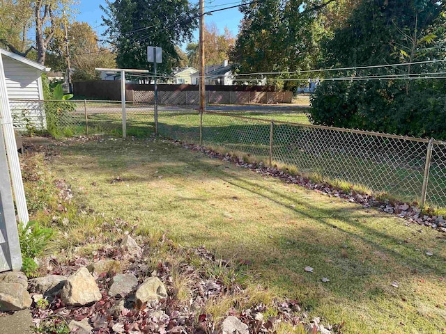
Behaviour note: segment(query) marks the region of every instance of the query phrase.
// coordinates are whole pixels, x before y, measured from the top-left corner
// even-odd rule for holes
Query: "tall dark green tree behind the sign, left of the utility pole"
[[[180,64],[176,45],[192,38],[198,11],[187,0],[106,0],[105,35],[116,47],[116,62],[123,68],[151,68],[147,46],[162,47],[158,70],[169,74]]]

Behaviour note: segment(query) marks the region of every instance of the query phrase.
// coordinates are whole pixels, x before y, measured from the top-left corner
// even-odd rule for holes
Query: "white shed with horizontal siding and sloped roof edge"
[[[46,129],[42,72],[49,68],[0,48],[14,127]],[[22,101],[18,101],[22,100]]]

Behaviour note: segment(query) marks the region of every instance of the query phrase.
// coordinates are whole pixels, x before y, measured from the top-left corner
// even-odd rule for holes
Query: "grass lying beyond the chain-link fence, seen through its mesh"
[[[180,141],[199,143],[198,111],[165,110],[172,108],[168,106],[162,108],[164,109],[160,110],[158,116],[160,134]],[[77,105],[75,113],[63,114],[59,120],[61,131],[53,135],[86,134],[88,129],[89,134],[122,136],[122,115],[118,104],[107,107],[102,102],[89,102],[88,125],[83,110],[81,103]],[[275,109],[275,106],[270,109],[265,109],[265,106],[234,106],[232,111],[205,113],[203,143],[211,147],[220,146],[231,152],[251,154],[256,159],[267,161],[270,142],[268,121],[272,120],[275,122],[272,148],[272,160],[275,164],[291,166],[302,175],[324,177],[327,182],[353,184],[367,193],[374,191],[401,201],[420,202],[426,145],[277,123],[309,124],[306,111],[302,106],[290,107],[288,112]],[[255,119],[247,120],[236,116]],[[146,138],[153,134],[153,118],[151,106],[129,106],[128,136]],[[436,150],[441,150],[440,146]],[[440,154],[439,152],[438,155]],[[439,210],[439,214],[445,214],[444,163],[433,164],[431,176],[426,203]]]

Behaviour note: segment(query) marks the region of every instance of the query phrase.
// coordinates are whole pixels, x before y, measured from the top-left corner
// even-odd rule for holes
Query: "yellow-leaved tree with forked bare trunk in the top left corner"
[[[6,9],[2,15],[2,25],[17,24],[10,26],[6,33],[1,36],[1,42],[11,51],[26,56],[33,47],[24,47],[27,43],[26,32],[31,26],[36,29],[37,62],[45,63],[45,56],[49,42],[51,42],[54,31],[61,23],[66,21],[75,6],[75,0],[3,0],[2,8]],[[4,5],[4,7],[3,7]],[[15,33],[20,29],[20,33]],[[0,29],[1,31],[1,29]],[[22,45],[17,44],[17,36],[21,36]],[[26,42],[25,42],[26,40]],[[22,50],[22,51],[21,51]]]

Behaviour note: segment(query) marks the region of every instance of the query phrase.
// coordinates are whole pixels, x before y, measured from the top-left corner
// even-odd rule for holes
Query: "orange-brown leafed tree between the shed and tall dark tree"
[[[98,45],[98,35],[86,22],[73,22],[68,26],[68,45],[70,61],[74,73],[73,79],[98,79],[95,67],[115,67],[115,56],[109,49]],[[45,65],[53,70],[65,72],[66,40],[63,27],[54,31],[54,38],[49,43],[49,52]]]

